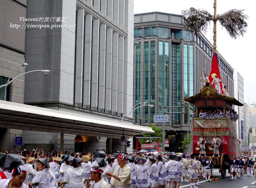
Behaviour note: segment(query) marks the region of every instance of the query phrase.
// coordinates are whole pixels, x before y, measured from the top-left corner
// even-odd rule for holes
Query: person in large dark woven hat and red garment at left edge
[[[25,162],[20,158],[20,155],[17,153],[8,153],[4,156],[0,157],[0,167],[2,168],[2,172],[0,172],[0,180],[12,178],[12,162],[18,162],[18,165],[25,164]]]

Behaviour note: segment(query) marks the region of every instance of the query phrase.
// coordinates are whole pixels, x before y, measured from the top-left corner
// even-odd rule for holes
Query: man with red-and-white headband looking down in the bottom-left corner
[[[17,162],[16,162],[17,164]],[[27,176],[27,169],[25,165],[16,165],[12,168],[12,178],[0,180],[1,188],[28,188],[24,183]]]

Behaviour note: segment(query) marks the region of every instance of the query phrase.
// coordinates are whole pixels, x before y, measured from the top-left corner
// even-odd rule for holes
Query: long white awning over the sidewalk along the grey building
[[[128,138],[141,133],[154,133],[151,127],[2,100],[0,127],[106,138],[120,138],[123,134]]]

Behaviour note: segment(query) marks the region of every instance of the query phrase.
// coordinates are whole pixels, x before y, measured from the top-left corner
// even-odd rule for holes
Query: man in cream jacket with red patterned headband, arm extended
[[[107,176],[111,176],[110,188],[114,185],[117,188],[130,188],[131,185],[131,168],[126,164],[126,155],[119,154],[117,157],[119,166],[116,167],[113,174],[111,172],[106,172]]]

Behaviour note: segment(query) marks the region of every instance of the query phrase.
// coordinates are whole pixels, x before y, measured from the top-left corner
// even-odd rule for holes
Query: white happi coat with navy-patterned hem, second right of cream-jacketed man
[[[137,187],[148,187],[148,165],[140,164],[137,168]]]

